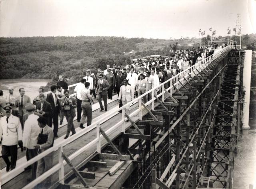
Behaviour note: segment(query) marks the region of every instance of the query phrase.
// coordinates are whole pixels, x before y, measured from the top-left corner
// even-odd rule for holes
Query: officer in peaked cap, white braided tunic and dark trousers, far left
[[[12,115],[12,107],[4,106],[6,116],[0,119],[0,138],[2,138],[2,158],[6,163],[6,171],[16,167],[17,149],[22,146],[22,128],[19,118]],[[9,160],[11,156],[11,161]]]

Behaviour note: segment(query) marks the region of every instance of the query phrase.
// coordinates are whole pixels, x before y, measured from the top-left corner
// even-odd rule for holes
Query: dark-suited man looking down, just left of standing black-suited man
[[[34,114],[39,117],[44,117],[47,120],[47,125],[50,126],[52,120],[52,106],[49,102],[45,101],[44,93],[38,95],[40,101],[36,102],[36,110]]]

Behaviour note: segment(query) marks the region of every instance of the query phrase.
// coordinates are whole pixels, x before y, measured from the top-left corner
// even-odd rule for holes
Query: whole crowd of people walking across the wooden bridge
[[[16,167],[18,146],[26,150],[27,160],[51,148],[54,139],[58,138],[59,125],[67,121],[67,131],[64,139],[76,134],[74,118],[83,129],[84,124],[92,124],[92,104],[98,100],[100,112],[108,111],[107,99],[112,100],[113,93],[117,93],[119,107],[141,96],[150,89],[158,86],[189,68],[198,61],[212,55],[214,49],[192,49],[171,52],[169,57],[151,57],[138,59],[127,64],[106,66],[105,70],[98,69],[98,73],[86,70],[86,76],[76,85],[75,96],[70,95],[68,84],[64,76],[59,76],[56,85],[50,87],[50,93],[38,90],[38,96],[31,101],[25,95],[24,88],[19,89],[19,95],[14,94],[14,88],[9,87],[9,93],[4,95],[0,90],[0,138],[2,138],[2,158],[6,162],[6,171]],[[175,81],[173,81],[175,82]],[[166,83],[170,87],[170,82]],[[160,93],[161,87],[156,88],[155,94]],[[93,99],[94,97],[94,99]],[[152,93],[145,95],[144,103],[152,99]],[[102,104],[104,102],[104,106]],[[53,126],[53,129],[52,129]],[[9,157],[11,157],[9,159]],[[32,181],[52,167],[53,153],[48,154],[26,169],[31,169]],[[50,185],[51,178],[44,181]]]

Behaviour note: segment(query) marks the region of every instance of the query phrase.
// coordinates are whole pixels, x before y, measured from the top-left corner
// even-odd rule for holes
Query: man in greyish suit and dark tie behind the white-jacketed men
[[[24,88],[19,89],[20,95],[16,97],[16,107],[18,107],[19,114],[20,114],[20,123],[23,129],[24,122],[25,122],[25,117],[24,115],[26,114],[25,106],[27,103],[30,103],[30,97],[25,95],[25,90]]]

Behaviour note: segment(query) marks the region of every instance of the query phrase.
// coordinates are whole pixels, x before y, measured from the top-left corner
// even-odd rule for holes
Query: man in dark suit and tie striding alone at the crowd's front
[[[99,75],[99,80],[98,80],[98,85],[97,85],[97,89],[96,89],[96,93],[98,95],[98,101],[100,104],[100,112],[102,112],[104,110],[103,106],[102,106],[102,98],[104,101],[104,106],[105,106],[105,112],[108,111],[108,103],[107,103],[107,90],[109,89],[109,84],[108,81],[106,79],[103,79],[103,75],[100,74]]]

